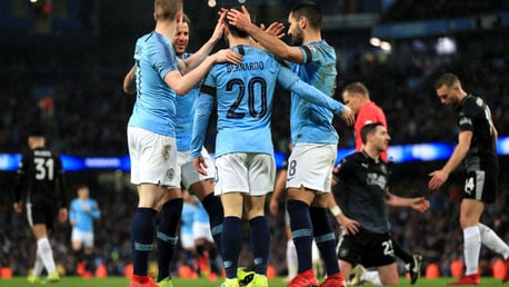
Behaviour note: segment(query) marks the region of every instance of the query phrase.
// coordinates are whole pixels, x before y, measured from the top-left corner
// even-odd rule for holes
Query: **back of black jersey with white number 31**
[[[63,174],[60,157],[46,148],[36,148],[23,155],[18,172],[24,176],[27,201],[49,201],[57,196],[57,180]]]

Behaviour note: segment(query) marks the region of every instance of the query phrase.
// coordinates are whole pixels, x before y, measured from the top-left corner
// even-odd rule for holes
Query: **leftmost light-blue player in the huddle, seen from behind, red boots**
[[[174,49],[170,44],[182,21],[182,0],[156,0],[156,29],[138,39],[134,50],[136,68],[124,79],[131,87],[136,78],[137,100],[128,123],[131,159],[131,182],[137,186],[139,202],[131,227],[133,276],[131,287],[154,287],[148,275],[148,256],[152,249],[154,219],[162,208],[159,225],[159,260],[167,261],[168,274],[159,286],[171,286],[169,263],[177,244],[177,225],[182,211],[180,174],[177,166],[176,97],[186,95],[216,62],[239,62],[241,56],[221,50],[204,60],[178,69]],[[221,16],[221,19],[223,14]],[[169,204],[169,205],[167,205]]]

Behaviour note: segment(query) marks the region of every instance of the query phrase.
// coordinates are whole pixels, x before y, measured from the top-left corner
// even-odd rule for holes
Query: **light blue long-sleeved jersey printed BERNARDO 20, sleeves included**
[[[250,46],[232,49],[243,55],[242,63],[216,65],[201,87],[191,141],[193,158],[200,156],[214,98],[218,106],[217,157],[231,152],[273,155],[270,121],[277,82],[335,112],[345,109],[342,103],[306,85],[266,50]]]

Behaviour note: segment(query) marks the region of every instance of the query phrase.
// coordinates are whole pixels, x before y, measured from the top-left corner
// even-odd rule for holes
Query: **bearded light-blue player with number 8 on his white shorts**
[[[335,49],[321,38],[321,11],[315,3],[296,6],[288,16],[288,33],[293,47],[266,33],[251,23],[244,7],[230,10],[227,19],[247,31],[263,48],[293,62],[300,79],[332,97],[336,85]],[[317,241],[326,265],[327,278],[321,286],[346,286],[335,254],[336,236],[328,218],[328,192],[337,156],[338,135],[332,115],[292,93],[290,109],[293,149],[287,176],[287,209],[298,255],[298,275],[288,286],[312,286],[318,280],[312,271],[311,246]],[[355,121],[350,109],[342,115],[348,125]]]

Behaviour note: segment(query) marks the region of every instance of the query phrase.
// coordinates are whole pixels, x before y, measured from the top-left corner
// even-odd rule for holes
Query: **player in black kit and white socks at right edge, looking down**
[[[442,75],[435,89],[442,105],[458,109],[459,135],[458,145],[442,169],[429,174],[428,187],[439,189],[461,162],[467,171],[460,207],[466,271],[458,281],[449,285],[480,284],[478,265],[481,244],[503,256],[506,275],[502,283],[507,283],[509,247],[491,228],[479,222],[485,206],[495,201],[498,190],[498,133],[491,121],[491,111],[481,98],[463,91],[456,75]]]

